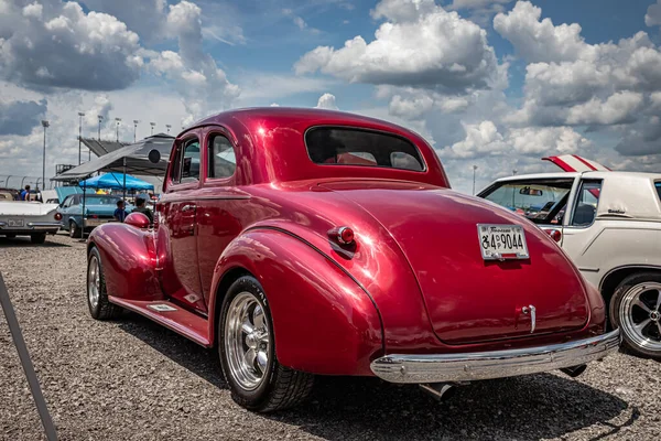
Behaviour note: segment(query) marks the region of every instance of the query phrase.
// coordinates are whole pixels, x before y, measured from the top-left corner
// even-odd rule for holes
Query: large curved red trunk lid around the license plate
[[[478,343],[581,329],[588,302],[581,276],[542,230],[507,209],[419,183],[335,182],[398,243],[413,270],[436,336]],[[476,224],[521,225],[530,259],[485,261]],[[411,295],[415,295],[411,293]],[[378,302],[378,301],[377,301]]]

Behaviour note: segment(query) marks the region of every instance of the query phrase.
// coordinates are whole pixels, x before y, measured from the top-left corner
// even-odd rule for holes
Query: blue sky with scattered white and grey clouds
[[[98,115],[271,105],[408,127],[466,193],[563,153],[661,172],[661,0],[0,0],[0,186],[41,176],[43,119],[51,176]]]

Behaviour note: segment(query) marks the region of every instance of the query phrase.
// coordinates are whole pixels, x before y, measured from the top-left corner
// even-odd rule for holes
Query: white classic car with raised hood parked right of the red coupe
[[[574,155],[544,159],[565,172],[499,179],[478,196],[549,233],[599,288],[622,343],[661,359],[661,174],[614,172]]]

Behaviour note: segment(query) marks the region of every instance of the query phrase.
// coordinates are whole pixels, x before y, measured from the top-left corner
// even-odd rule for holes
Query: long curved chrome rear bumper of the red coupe
[[[582,365],[617,351],[619,330],[596,337],[520,349],[463,354],[391,354],[371,363],[390,383],[449,383],[513,377]]]

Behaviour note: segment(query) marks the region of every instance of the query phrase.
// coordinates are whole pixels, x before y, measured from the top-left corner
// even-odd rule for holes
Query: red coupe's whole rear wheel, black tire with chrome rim
[[[240,406],[273,412],[301,404],[314,376],[278,363],[269,303],[251,276],[235,281],[223,301],[218,353],[232,399]]]

